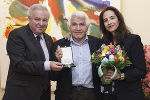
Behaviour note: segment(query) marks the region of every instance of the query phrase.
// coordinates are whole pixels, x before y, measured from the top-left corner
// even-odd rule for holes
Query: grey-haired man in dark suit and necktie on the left
[[[7,41],[10,66],[3,100],[50,100],[48,74],[60,71],[62,66],[51,61],[53,41],[44,32],[49,16],[46,6],[34,4],[29,10],[29,24],[11,31]]]

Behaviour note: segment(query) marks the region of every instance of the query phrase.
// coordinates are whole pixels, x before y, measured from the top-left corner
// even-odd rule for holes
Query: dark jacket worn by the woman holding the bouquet
[[[117,100],[145,100],[141,87],[141,79],[146,75],[141,38],[138,35],[130,34],[120,45],[124,47],[132,65],[121,70],[122,73],[125,73],[125,80],[115,81],[114,94],[117,96]],[[98,78],[97,70],[95,71],[94,78]],[[100,81],[95,84],[99,93],[100,84]]]

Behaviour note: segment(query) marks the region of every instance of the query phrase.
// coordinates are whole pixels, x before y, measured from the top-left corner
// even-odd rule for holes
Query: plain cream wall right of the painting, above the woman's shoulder
[[[133,33],[150,44],[150,0],[121,0],[121,12]]]

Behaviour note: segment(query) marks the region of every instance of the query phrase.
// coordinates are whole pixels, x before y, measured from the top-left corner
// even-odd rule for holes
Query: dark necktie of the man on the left
[[[38,42],[38,44],[39,44],[39,46],[40,46],[40,48],[41,48],[42,57],[43,57],[43,59],[44,59],[44,61],[45,61],[45,60],[46,60],[45,54],[44,54],[43,48],[42,48],[41,43],[40,43],[41,36],[38,35],[38,36],[36,37],[36,39],[37,39],[37,42]],[[49,83],[49,79],[48,79],[48,72],[46,72],[46,73],[45,73],[45,81],[44,81],[44,89],[45,89],[45,90],[48,89],[49,84],[50,84],[50,83]]]

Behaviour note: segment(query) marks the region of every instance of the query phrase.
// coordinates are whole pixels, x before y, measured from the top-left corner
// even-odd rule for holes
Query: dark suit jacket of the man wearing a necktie
[[[46,33],[43,35],[52,59],[52,39]],[[7,53],[10,66],[3,100],[40,100],[45,78],[44,59],[29,25],[11,31]]]

